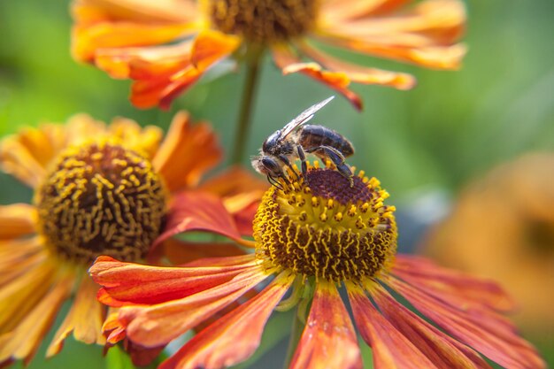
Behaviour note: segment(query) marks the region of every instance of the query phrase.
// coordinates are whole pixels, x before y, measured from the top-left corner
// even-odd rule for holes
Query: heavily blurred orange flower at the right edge
[[[554,154],[501,165],[474,181],[424,251],[500,281],[520,304],[529,331],[554,328]]]

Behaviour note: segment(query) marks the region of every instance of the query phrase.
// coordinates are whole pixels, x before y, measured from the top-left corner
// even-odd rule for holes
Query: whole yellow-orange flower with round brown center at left
[[[221,245],[175,249],[182,242],[173,234],[204,227],[204,218],[189,216],[190,206],[217,214],[227,236],[248,233],[235,219],[244,223],[242,209],[260,188],[239,169],[196,186],[221,156],[206,123],[191,125],[180,112],[160,144],[161,137],[158,127],[129,119],[106,126],[79,115],[66,126],[27,128],[0,143],[0,167],[35,189],[32,205],[0,206],[0,366],[31,360],[73,290],[47,355],[57,354],[72,331],[78,341],[105,342],[105,307],[87,278],[99,255],[139,261],[157,245],[180,260],[242,253]]]

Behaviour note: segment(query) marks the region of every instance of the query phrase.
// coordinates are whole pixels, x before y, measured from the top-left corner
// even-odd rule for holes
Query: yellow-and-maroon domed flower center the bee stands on
[[[389,268],[395,208],[383,204],[389,194],[379,181],[360,172],[350,187],[341,173],[316,165],[307,181],[281,186],[265,193],[254,219],[257,257],[269,271],[359,281]]]

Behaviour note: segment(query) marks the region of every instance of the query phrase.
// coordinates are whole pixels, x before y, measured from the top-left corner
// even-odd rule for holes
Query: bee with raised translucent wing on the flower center
[[[330,128],[305,124],[334,97],[331,96],[312,105],[292,119],[285,127],[273,132],[265,139],[259,155],[252,158],[252,166],[258,173],[265,174],[267,181],[273,186],[281,188],[277,181],[279,178],[290,184],[283,171],[285,166],[289,167],[292,173],[298,177],[298,173],[292,166],[296,159],[302,163],[302,173],[305,179],[308,171],[305,154],[313,154],[322,160],[331,160],[337,171],[350,182],[350,187],[354,186],[350,167],[344,163],[344,158],[354,154],[354,148],[350,141]]]

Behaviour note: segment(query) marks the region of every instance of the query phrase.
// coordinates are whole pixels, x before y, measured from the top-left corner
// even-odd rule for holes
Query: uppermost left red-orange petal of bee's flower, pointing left
[[[159,304],[193,295],[231,280],[255,265],[251,255],[230,257],[231,265],[206,267],[157,267],[124,263],[109,257],[96,259],[89,273],[103,286],[98,299],[103,304]],[[217,264],[217,263],[214,263]]]

